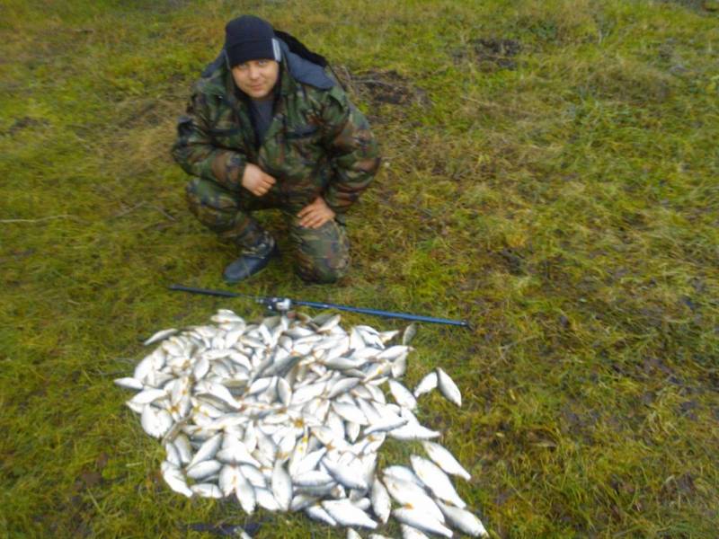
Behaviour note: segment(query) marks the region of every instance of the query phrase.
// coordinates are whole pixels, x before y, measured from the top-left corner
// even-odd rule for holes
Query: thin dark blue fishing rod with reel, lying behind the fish
[[[339,311],[349,311],[350,313],[372,314],[374,316],[399,318],[401,320],[412,320],[414,322],[443,323],[464,328],[469,327],[469,323],[464,320],[449,320],[448,318],[422,316],[422,314],[393,313],[391,311],[380,311],[378,309],[367,309],[365,307],[352,307],[351,305],[304,301],[301,299],[290,299],[288,297],[251,296],[249,294],[240,294],[239,292],[229,292],[227,290],[209,290],[208,288],[185,287],[183,285],[170,285],[168,288],[177,292],[189,292],[191,294],[202,294],[205,296],[245,297],[247,299],[252,299],[255,303],[265,305],[271,311],[277,311],[280,313],[286,313],[293,305],[303,305],[306,307],[313,307],[315,309],[337,309]]]

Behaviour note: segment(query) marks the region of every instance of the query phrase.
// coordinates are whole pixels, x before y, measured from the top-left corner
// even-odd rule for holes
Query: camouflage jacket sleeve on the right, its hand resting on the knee
[[[330,208],[344,213],[377,173],[380,161],[377,141],[364,114],[337,86],[325,94],[322,120],[324,146],[334,169],[323,196]]]

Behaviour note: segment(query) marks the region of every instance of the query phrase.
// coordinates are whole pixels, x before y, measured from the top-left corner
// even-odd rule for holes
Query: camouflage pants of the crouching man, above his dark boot
[[[310,282],[332,283],[350,266],[350,242],[344,225],[336,220],[319,228],[299,225],[297,212],[309,204],[311,198],[290,201],[274,188],[263,197],[255,197],[248,190],[226,190],[217,182],[202,178],[193,178],[187,184],[188,205],[200,223],[220,238],[240,246],[253,245],[262,234],[262,228],[252,217],[254,210],[280,209],[296,254],[297,275]]]

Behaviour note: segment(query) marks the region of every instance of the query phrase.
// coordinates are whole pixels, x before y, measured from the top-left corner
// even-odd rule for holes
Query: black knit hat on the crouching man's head
[[[280,44],[271,24],[254,15],[243,15],[227,22],[225,50],[230,67],[248,60],[280,61]]]

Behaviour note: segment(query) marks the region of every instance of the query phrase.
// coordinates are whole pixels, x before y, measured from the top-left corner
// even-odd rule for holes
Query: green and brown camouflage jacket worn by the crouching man
[[[377,142],[339,85],[326,75],[329,84],[297,80],[316,80],[302,72],[320,68],[282,45],[279,91],[262,145],[247,96],[237,89],[226,63],[216,61],[194,85],[187,115],[179,120],[173,157],[185,172],[237,192],[245,163],[254,163],[277,180],[272,189],[288,206],[304,206],[322,194],[342,214],[377,172]],[[291,57],[299,65],[298,76],[292,74]]]

